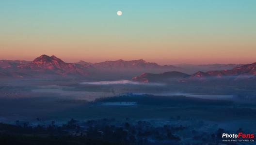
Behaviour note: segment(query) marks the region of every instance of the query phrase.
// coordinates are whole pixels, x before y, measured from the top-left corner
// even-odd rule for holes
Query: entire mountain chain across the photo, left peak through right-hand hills
[[[181,67],[183,66],[183,67]],[[186,67],[189,66],[189,67]],[[206,72],[198,71],[189,74],[192,66],[204,67]],[[230,67],[234,67],[229,69]],[[202,67],[201,67],[202,68]],[[208,68],[208,69],[207,69]],[[217,70],[210,71],[211,68]],[[219,70],[223,69],[223,70]],[[188,71],[190,70],[190,71]],[[150,72],[150,73],[145,73]],[[165,72],[165,73],[164,73]],[[180,73],[183,72],[183,73]],[[232,79],[256,78],[256,63],[241,64],[209,64],[209,65],[159,65],[154,62],[139,60],[116,60],[90,63],[80,61],[67,63],[56,56],[42,55],[33,61],[25,60],[0,60],[0,78],[45,78],[45,77],[112,77],[134,76],[133,81],[162,82],[162,81],[207,81],[209,79]],[[118,77],[117,77],[118,78]]]

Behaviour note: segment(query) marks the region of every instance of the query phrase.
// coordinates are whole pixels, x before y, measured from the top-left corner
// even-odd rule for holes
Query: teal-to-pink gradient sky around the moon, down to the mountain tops
[[[66,62],[253,63],[255,4],[255,0],[2,0],[0,59],[33,60],[54,54]]]

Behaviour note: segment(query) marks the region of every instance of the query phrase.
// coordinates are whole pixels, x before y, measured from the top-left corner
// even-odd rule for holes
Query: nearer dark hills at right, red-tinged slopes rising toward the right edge
[[[192,75],[180,72],[165,72],[160,74],[152,73],[143,73],[139,76],[132,78],[133,81],[139,82],[169,82],[169,81],[178,81],[178,82],[206,82],[213,80],[229,80],[229,81],[238,81],[238,80],[256,80],[256,63],[242,65],[235,67],[230,70],[222,71],[208,71],[208,72],[196,72]]]

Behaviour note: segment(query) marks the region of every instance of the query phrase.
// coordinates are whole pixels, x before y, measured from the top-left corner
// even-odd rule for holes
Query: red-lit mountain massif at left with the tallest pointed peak
[[[42,55],[35,58],[32,62],[12,62],[1,63],[1,76],[11,78],[23,77],[43,77],[43,76],[68,76],[68,75],[87,75],[79,66],[74,63],[66,63],[62,59],[54,55],[49,57]],[[20,75],[11,75],[18,73]]]

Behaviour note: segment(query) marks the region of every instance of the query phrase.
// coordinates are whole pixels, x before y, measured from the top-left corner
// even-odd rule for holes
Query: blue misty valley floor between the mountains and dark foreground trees
[[[161,120],[160,124],[175,118],[173,124],[203,121],[229,131],[253,130],[256,127],[254,88],[144,84],[127,80],[4,82],[0,84],[0,122],[14,124],[19,120],[36,125],[55,121],[61,125],[70,118],[81,121],[131,118]],[[203,126],[204,129],[207,130]]]

